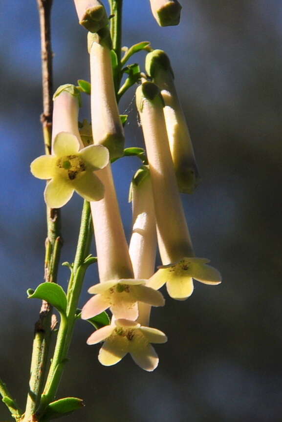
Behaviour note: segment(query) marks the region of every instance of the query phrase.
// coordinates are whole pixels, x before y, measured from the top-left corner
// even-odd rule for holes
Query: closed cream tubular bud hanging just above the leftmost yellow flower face
[[[91,73],[91,121],[94,144],[108,148],[110,159],[123,155],[125,137],[117,107],[108,28],[88,34]]]

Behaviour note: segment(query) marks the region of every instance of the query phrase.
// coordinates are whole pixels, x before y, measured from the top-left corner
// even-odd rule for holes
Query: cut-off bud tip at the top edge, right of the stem
[[[178,25],[181,4],[177,0],[150,0],[152,14],[160,26]]]

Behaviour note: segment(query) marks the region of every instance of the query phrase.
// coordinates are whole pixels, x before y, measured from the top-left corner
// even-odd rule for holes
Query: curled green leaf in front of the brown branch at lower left
[[[45,282],[40,284],[36,290],[28,289],[27,290],[28,298],[37,298],[46,300],[50,303],[59,312],[65,314],[66,311],[66,295],[61,286],[55,283]]]

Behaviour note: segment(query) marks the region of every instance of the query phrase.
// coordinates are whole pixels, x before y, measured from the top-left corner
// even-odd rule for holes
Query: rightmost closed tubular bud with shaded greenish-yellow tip
[[[199,183],[193,145],[182,107],[174,86],[170,59],[162,50],[153,50],[146,57],[146,71],[161,90],[164,115],[174,170],[180,192],[193,193]]]

